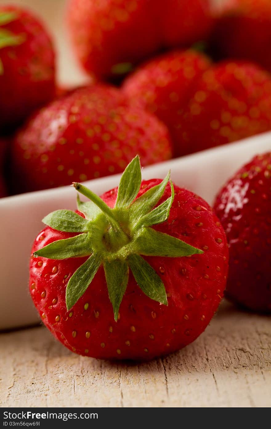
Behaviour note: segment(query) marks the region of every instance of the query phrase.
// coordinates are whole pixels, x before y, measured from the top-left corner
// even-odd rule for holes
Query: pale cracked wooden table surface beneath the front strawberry
[[[224,302],[188,347],[149,363],[77,356],[42,326],[0,334],[1,407],[270,407],[271,318]]]

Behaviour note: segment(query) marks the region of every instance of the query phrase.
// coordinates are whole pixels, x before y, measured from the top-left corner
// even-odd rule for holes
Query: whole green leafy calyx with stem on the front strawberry
[[[54,230],[79,234],[52,242],[34,252],[34,257],[62,260],[88,256],[68,281],[67,310],[83,295],[101,265],[115,320],[128,284],[129,270],[149,298],[167,305],[163,281],[141,255],[184,257],[203,253],[152,228],[169,217],[174,199],[172,181],[171,196],[157,206],[169,180],[170,172],[160,184],[136,198],[141,185],[140,160],[136,156],[122,174],[114,208],[109,208],[87,187],[73,183],[72,186],[90,200],[82,202],[77,195],[77,208],[85,218],[71,210],[57,210],[43,219],[43,223]]]

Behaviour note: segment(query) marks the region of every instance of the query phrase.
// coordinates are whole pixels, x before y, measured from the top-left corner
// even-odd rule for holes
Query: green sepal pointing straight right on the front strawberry
[[[202,254],[197,249],[176,237],[160,233],[152,228],[145,228],[137,237],[134,249],[137,253],[145,256],[182,257],[194,254]]]

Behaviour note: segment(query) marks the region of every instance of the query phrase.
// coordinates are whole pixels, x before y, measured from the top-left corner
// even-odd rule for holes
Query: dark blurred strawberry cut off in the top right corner
[[[214,30],[218,54],[255,61],[271,71],[270,0],[233,0]]]

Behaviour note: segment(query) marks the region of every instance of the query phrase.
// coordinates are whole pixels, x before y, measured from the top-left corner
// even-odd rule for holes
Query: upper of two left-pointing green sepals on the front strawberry
[[[45,225],[65,233],[84,233],[88,231],[89,221],[71,210],[56,210],[42,219]]]

